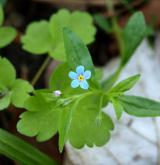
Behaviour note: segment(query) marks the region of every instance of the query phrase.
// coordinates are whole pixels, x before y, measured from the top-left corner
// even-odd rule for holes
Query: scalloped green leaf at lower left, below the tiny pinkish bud
[[[46,141],[58,131],[61,109],[54,101],[48,102],[41,95],[31,96],[24,106],[28,111],[20,115],[17,130],[27,136],[37,136],[38,141]]]

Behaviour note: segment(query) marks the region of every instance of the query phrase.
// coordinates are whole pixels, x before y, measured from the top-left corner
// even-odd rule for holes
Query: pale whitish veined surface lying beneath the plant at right
[[[160,41],[158,41],[160,44]],[[130,92],[135,95],[160,99],[160,56],[156,56],[147,41],[135,52],[119,80],[140,73],[141,80]],[[159,61],[158,61],[158,60]],[[114,59],[104,68],[106,76],[117,67]],[[136,118],[123,114],[118,122],[113,108],[105,108],[115,122],[111,140],[103,147],[74,149],[66,145],[65,165],[155,165],[157,164],[157,136],[160,137],[160,119]],[[158,132],[156,130],[159,130]],[[160,139],[158,139],[160,141]]]

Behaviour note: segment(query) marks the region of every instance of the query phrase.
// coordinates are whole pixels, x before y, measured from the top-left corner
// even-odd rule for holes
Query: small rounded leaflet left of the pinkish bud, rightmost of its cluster
[[[33,87],[29,82],[17,79],[12,87],[12,104],[22,108],[25,100],[29,97],[29,93],[33,91]]]

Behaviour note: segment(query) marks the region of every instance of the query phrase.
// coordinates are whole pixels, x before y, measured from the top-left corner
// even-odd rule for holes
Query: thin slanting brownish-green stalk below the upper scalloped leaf
[[[42,73],[44,72],[45,68],[47,67],[47,65],[49,64],[50,61],[50,57],[48,56],[43,64],[40,66],[38,72],[36,73],[36,75],[34,76],[33,80],[31,81],[31,84],[34,86],[37,81],[39,80],[40,76],[42,75]]]

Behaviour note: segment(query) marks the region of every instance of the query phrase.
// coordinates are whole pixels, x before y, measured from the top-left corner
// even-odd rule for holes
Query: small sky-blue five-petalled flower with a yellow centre
[[[69,77],[72,79],[71,87],[77,88],[81,87],[82,89],[88,89],[89,84],[86,80],[91,78],[91,71],[84,71],[84,66],[77,66],[76,72],[70,71]]]

